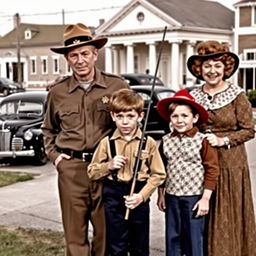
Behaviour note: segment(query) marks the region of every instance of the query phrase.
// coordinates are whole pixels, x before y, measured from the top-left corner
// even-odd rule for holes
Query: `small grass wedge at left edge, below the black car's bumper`
[[[33,178],[33,174],[30,173],[0,171],[0,187],[32,180]]]

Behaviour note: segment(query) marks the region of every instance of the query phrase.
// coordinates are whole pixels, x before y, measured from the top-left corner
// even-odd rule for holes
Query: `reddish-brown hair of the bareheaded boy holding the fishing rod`
[[[110,98],[110,111],[113,113],[135,110],[138,114],[143,112],[143,98],[131,89],[121,89],[114,92]]]

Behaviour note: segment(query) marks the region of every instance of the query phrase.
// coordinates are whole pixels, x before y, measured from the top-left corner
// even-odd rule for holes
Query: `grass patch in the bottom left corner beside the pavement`
[[[0,226],[0,256],[63,256],[62,232]]]

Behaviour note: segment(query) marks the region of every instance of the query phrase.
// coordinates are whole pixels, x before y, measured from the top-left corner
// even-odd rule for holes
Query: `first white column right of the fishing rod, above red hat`
[[[179,81],[179,57],[180,57],[180,41],[170,41],[171,43],[171,88],[178,91],[180,89]]]

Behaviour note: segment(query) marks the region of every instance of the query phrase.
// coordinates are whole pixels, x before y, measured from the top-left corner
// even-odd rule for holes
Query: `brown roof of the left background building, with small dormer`
[[[46,25],[21,23],[19,37],[21,47],[63,45],[63,32],[67,25]],[[93,32],[93,28],[90,28]],[[25,39],[25,31],[30,30],[31,39]],[[0,38],[0,48],[12,48],[17,42],[16,29]]]

